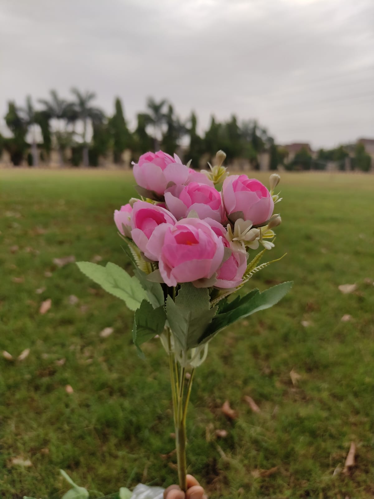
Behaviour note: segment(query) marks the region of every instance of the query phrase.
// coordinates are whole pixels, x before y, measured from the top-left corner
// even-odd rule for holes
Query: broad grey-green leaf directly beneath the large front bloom
[[[175,302],[170,296],[166,300],[167,320],[183,351],[198,346],[216,312],[217,307],[210,308],[208,288],[191,282],[181,285]]]

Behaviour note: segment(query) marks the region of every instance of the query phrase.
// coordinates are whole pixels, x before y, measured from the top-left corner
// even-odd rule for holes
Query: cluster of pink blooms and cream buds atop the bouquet
[[[273,246],[267,240],[280,223],[273,215],[279,176],[270,177],[269,191],[246,175],[228,176],[225,157],[219,151],[217,164],[204,173],[162,151],[143,154],[133,165],[142,199],[116,210],[114,220],[167,286],[236,288],[243,282],[248,249]]]

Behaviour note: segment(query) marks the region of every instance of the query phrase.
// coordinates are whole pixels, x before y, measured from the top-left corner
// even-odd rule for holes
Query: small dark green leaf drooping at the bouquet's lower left
[[[165,321],[166,313],[163,306],[153,308],[147,300],[141,302],[140,307],[135,312],[132,339],[142,358],[144,358],[144,354],[140,345],[156,334],[161,334],[165,327]]]

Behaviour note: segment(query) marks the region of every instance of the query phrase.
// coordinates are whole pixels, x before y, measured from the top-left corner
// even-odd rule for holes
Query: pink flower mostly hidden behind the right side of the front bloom
[[[233,250],[229,241],[226,239],[227,230],[221,224],[210,219],[206,219],[205,222],[207,222],[217,236],[222,239],[224,247],[229,248],[232,251],[229,258],[227,258],[218,269],[218,275],[214,285],[223,288],[239,286],[243,281],[243,275],[247,269],[246,251]]]

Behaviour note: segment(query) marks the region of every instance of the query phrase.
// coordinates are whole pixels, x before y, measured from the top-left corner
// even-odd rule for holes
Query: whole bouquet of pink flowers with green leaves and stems
[[[132,338],[141,346],[158,337],[170,370],[179,485],[186,491],[186,416],[196,368],[210,341],[233,322],[271,307],[291,288],[284,282],[228,299],[271,263],[260,263],[274,247],[273,215],[280,178],[270,190],[246,175],[229,176],[219,151],[210,170],[197,172],[178,156],[143,154],[133,165],[136,190],[114,213],[134,275],[108,263],[79,262],[81,271],[135,312]],[[260,245],[263,249],[251,254]],[[278,258],[280,259],[280,258]],[[277,261],[277,260],[272,260]]]

